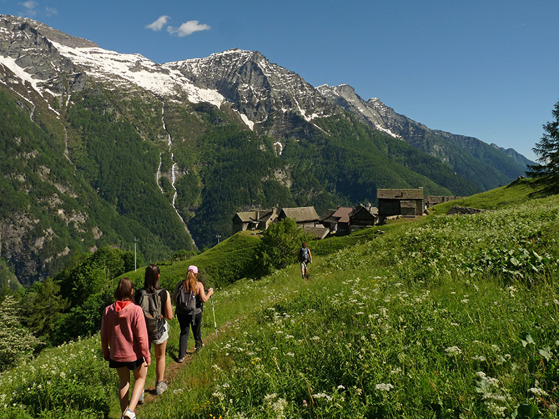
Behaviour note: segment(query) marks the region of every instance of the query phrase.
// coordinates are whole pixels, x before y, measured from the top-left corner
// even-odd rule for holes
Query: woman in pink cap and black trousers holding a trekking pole
[[[202,348],[202,310],[203,303],[207,302],[214,293],[214,288],[204,292],[203,284],[198,281],[198,267],[190,265],[187,277],[179,281],[173,293],[173,300],[177,306],[176,314],[180,325],[179,358],[184,362],[187,356],[187,344],[190,328],[196,342],[196,351]]]

